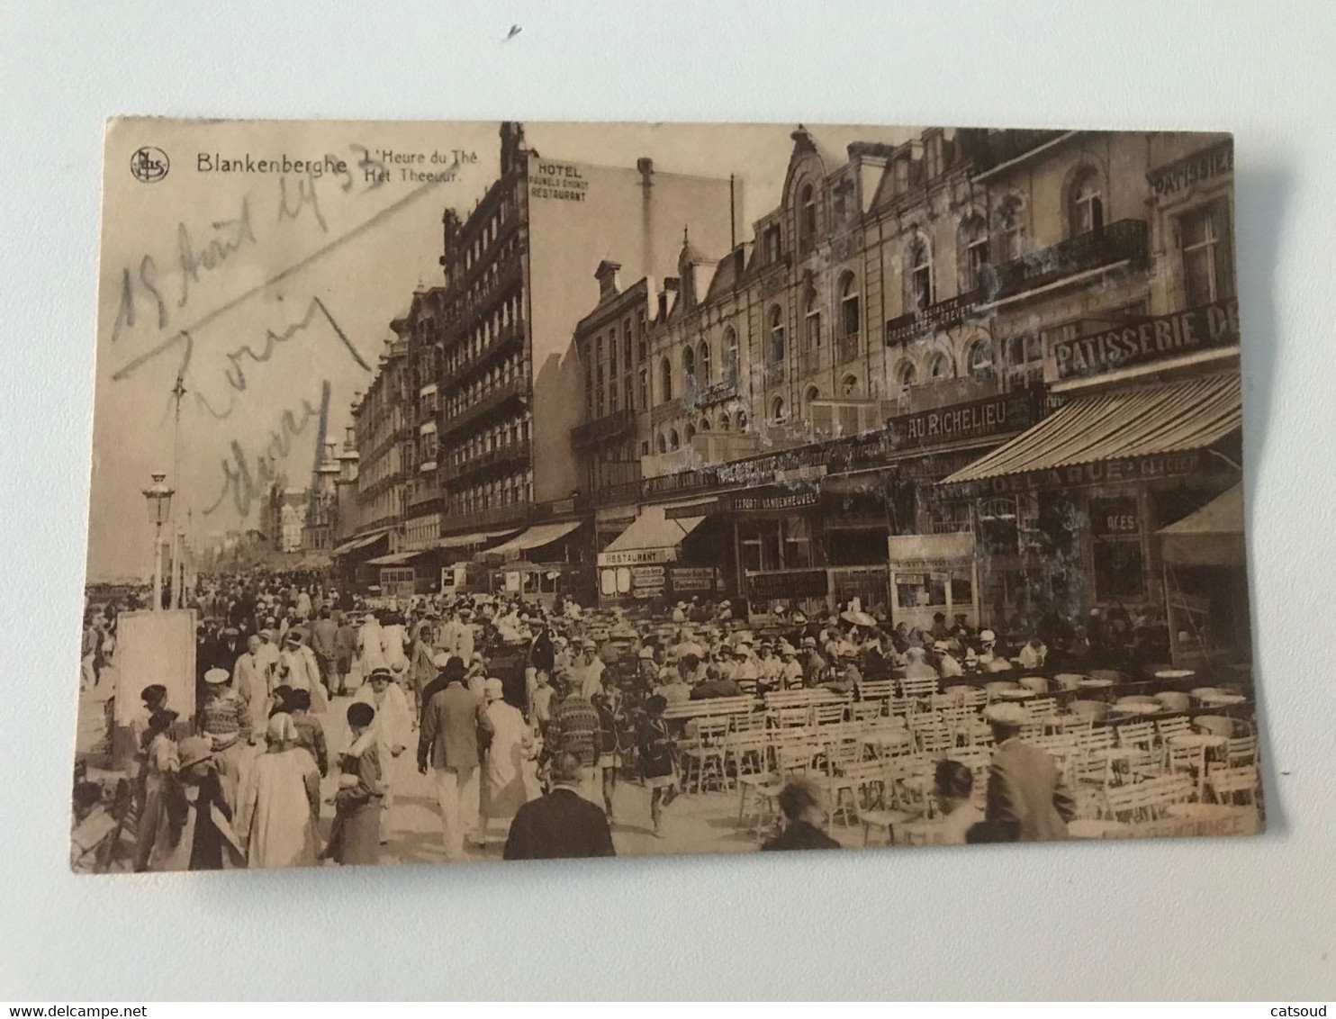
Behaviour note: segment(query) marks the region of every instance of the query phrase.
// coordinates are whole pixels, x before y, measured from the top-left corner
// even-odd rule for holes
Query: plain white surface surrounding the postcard
[[[1336,988],[1336,5],[0,5],[0,999],[1265,998]],[[522,32],[501,39],[512,24]],[[115,114],[1236,132],[1271,829],[1169,844],[73,877]]]

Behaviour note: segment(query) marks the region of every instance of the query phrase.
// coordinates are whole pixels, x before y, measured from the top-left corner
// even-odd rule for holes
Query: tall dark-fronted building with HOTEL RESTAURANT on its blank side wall
[[[468,216],[444,215],[444,284],[420,287],[391,326],[373,391],[402,378],[397,417],[381,434],[361,423],[370,411],[357,415],[362,491],[402,494],[398,506],[363,501],[363,532],[398,529],[369,565],[414,569],[417,589],[433,590],[442,565],[513,536],[493,558],[529,565],[509,568],[508,582],[565,572],[588,544],[573,537],[584,493],[569,442],[582,393],[572,330],[597,292],[588,266],[616,247],[628,271],[653,275],[673,263],[684,228],[725,247],[739,204],[732,180],[665,174],[649,159],[540,158],[504,124],[498,179]]]

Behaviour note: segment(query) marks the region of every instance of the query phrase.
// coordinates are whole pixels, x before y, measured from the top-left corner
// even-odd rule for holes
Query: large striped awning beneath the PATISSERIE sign
[[[1078,397],[942,483],[1205,449],[1242,425],[1238,375]]]

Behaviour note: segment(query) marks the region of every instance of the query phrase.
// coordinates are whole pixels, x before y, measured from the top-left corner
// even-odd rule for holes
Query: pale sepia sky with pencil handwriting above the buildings
[[[525,135],[552,159],[633,167],[649,156],[657,171],[736,174],[749,230],[778,203],[794,127],[540,123],[526,124]],[[852,140],[912,134],[808,127],[840,158]],[[453,206],[466,215],[496,179],[497,130],[496,123],[172,120],[108,128],[91,580],[146,574],[152,533],[142,489],[154,470],[170,475],[179,522],[200,542],[262,526],[266,459],[290,485],[306,485],[321,421],[327,441],[342,443],[353,393],[370,381],[390,319],[407,307],[418,282],[441,280],[442,211]],[[167,156],[158,180],[132,172],[160,162],[156,152],[136,159],[144,147]],[[390,180],[371,186],[362,163],[385,150],[422,162],[390,163]],[[402,179],[403,168],[449,170],[456,151],[469,155],[453,180]],[[200,172],[222,160],[285,155],[333,156],[346,171],[315,179]],[[592,303],[593,266],[589,272]],[[172,389],[182,371],[186,395],[174,441]]]

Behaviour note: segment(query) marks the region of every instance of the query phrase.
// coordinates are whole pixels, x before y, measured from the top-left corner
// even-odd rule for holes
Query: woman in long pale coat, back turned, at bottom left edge
[[[247,771],[236,812],[246,865],[310,867],[317,856],[321,772],[293,716],[269,720],[269,749]]]

